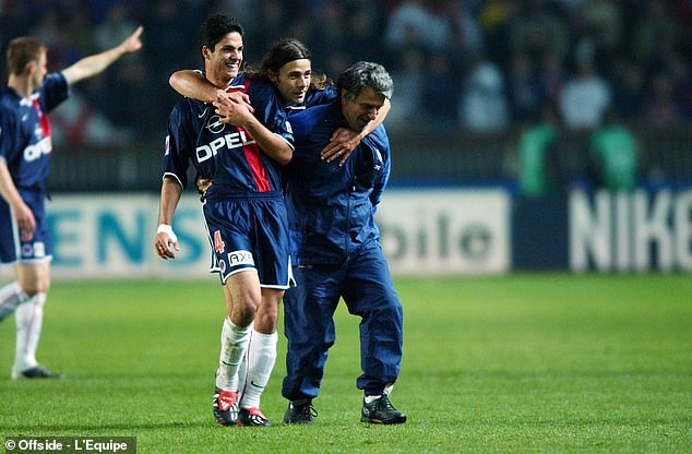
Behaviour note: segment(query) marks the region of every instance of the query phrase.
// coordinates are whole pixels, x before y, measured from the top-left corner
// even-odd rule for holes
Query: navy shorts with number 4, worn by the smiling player
[[[293,286],[288,222],[281,193],[204,202],[204,220],[212,247],[210,272],[222,284],[228,276],[255,268],[264,288]]]

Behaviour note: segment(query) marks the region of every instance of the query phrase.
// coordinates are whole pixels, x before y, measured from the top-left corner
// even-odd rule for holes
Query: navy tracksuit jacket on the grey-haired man
[[[296,150],[285,170],[291,261],[344,263],[363,244],[380,240],[374,213],[391,169],[384,126],[368,134],[338,167],[338,159],[320,159],[334,130],[347,127],[338,99],[291,115],[290,124]]]

